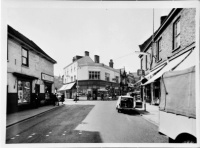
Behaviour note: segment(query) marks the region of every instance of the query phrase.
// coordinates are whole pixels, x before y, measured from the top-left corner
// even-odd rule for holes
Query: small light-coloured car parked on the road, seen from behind
[[[116,109],[118,112],[123,110],[134,110],[134,98],[131,96],[119,96],[116,104]]]

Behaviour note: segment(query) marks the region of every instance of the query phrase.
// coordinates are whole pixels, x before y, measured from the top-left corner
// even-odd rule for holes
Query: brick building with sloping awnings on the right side
[[[146,79],[141,85],[142,97],[147,102],[159,99],[160,78],[165,71],[195,65],[195,19],[195,8],[174,8],[168,16],[161,17],[158,30],[139,45],[141,52],[148,53],[139,56]],[[190,62],[184,62],[186,59]]]

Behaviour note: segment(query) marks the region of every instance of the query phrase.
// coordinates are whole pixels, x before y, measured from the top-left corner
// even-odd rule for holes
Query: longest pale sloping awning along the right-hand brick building
[[[187,56],[190,53],[191,53],[191,51],[188,51],[188,52],[182,54],[181,56],[175,58],[174,60],[170,61],[163,69],[161,69],[156,75],[154,75],[151,79],[149,79],[146,83],[144,83],[142,85],[147,85],[147,84],[154,82],[156,79],[160,78],[163,75],[163,73],[172,70],[177,65],[179,65],[181,62],[183,62],[183,60],[185,60],[185,58],[187,58]]]

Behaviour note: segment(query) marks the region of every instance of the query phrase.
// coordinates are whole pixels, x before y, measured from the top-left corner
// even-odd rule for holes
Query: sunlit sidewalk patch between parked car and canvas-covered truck
[[[146,111],[144,111],[144,105],[143,108],[137,108],[136,111],[140,113],[140,115],[148,120],[149,122],[159,125],[159,107],[156,105],[150,105],[149,103],[146,103]]]

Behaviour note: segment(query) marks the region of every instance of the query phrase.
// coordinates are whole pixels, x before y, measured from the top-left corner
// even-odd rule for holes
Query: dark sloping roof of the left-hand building
[[[17,30],[13,29],[11,26],[8,25],[8,36],[13,39],[18,39],[18,41],[22,42],[22,45],[24,43],[31,47],[32,50],[42,55],[44,58],[46,58],[48,61],[52,62],[53,64],[56,64],[57,62],[52,59],[49,55],[47,55],[38,45],[36,45],[33,41],[25,37],[23,34],[18,32]]]

